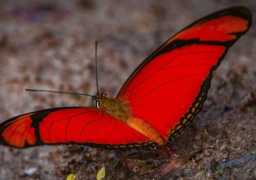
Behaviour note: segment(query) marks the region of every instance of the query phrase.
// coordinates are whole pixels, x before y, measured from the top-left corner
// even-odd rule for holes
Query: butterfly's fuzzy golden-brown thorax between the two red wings
[[[102,109],[104,113],[112,116],[113,118],[120,119],[125,122],[131,118],[131,107],[124,104],[122,101],[116,98],[109,97],[102,93],[98,95],[98,108]]]

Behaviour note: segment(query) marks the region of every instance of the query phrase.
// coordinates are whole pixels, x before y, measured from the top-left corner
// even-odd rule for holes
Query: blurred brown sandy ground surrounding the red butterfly
[[[0,2],[0,122],[39,109],[91,105],[87,97],[24,89],[95,94],[95,40],[100,91],[115,96],[150,52],[190,22],[236,4],[256,17],[254,0],[49,2]],[[0,179],[65,179],[70,173],[95,179],[104,165],[106,179],[255,179],[255,24],[214,74],[195,122],[174,139],[179,162],[161,150],[124,155],[80,146],[1,146]]]

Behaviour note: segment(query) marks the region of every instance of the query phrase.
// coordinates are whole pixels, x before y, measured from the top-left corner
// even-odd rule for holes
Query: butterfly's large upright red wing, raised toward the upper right
[[[251,13],[245,7],[194,22],[143,61],[116,98],[170,141],[201,110],[213,71],[250,24]]]

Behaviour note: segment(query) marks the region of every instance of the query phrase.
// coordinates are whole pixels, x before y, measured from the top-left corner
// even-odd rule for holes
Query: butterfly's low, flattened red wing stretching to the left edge
[[[111,149],[154,146],[118,119],[87,107],[60,107],[16,116],[0,124],[0,143],[13,147],[75,143]]]

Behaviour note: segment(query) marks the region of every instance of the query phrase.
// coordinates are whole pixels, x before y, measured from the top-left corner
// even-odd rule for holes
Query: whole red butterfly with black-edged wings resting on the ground
[[[202,109],[213,72],[250,25],[251,12],[240,6],[197,20],[147,57],[116,98],[97,93],[95,107],[58,107],[16,116],[0,124],[0,143],[106,149],[170,143]]]

